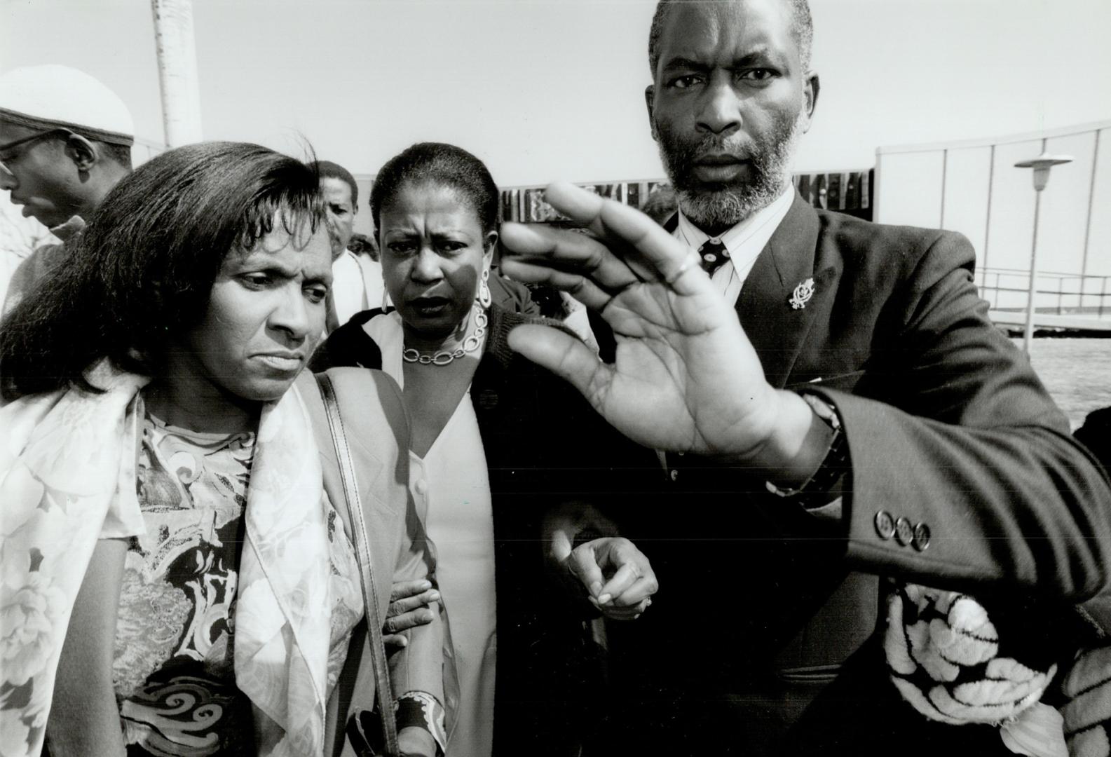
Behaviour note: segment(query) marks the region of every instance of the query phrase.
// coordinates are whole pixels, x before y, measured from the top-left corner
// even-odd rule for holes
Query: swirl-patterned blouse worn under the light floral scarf
[[[200,434],[144,418],[137,485],[147,532],[128,548],[112,668],[128,755],[254,751],[232,656],[254,448],[253,432]],[[334,511],[328,536],[330,689],[363,608],[354,551]]]

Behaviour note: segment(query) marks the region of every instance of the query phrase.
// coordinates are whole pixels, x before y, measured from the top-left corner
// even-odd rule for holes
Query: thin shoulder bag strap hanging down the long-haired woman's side
[[[348,449],[347,435],[343,431],[343,418],[340,406],[336,401],[336,388],[327,373],[317,373],[320,396],[324,400],[324,411],[328,416],[328,428],[336,444],[336,458],[339,460],[340,479],[343,482],[343,500],[348,508],[352,534],[351,542],[356,548],[356,559],[362,571],[362,602],[366,606],[367,626],[370,628],[371,658],[374,663],[374,687],[378,691],[378,708],[382,719],[382,737],[386,743],[386,754],[397,757],[398,723],[393,713],[393,688],[390,685],[390,671],[386,664],[386,645],[382,643],[382,620],[378,615],[378,589],[374,587],[374,574],[370,562],[370,551],[364,535],[366,524],[362,518],[362,502],[359,487],[356,484],[354,466],[351,464],[351,451]],[[341,715],[342,717],[342,715]]]

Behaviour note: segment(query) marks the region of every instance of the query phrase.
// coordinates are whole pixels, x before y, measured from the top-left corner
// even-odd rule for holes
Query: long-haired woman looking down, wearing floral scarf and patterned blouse
[[[167,152],[0,323],[0,755],[373,738],[363,597],[382,617],[390,582],[431,566],[396,385],[336,377],[381,419],[352,445],[382,474],[358,472],[358,518],[317,387],[294,386],[331,282],[317,187],[253,145]],[[403,754],[442,748],[441,633],[412,629],[390,659]]]

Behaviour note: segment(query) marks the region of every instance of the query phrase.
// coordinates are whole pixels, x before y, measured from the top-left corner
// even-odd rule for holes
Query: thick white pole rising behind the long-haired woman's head
[[[192,0],[151,0],[162,123],[168,147],[201,141],[201,96]]]

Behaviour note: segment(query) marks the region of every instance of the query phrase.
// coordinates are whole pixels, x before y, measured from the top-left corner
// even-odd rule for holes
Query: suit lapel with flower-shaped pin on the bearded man
[[[737,300],[737,313],[755,347],[768,382],[782,388],[814,319],[828,312],[837,271],[814,270],[818,213],[795,192],[791,209],[757,258]],[[814,291],[805,307],[793,309],[795,287],[812,278]]]

